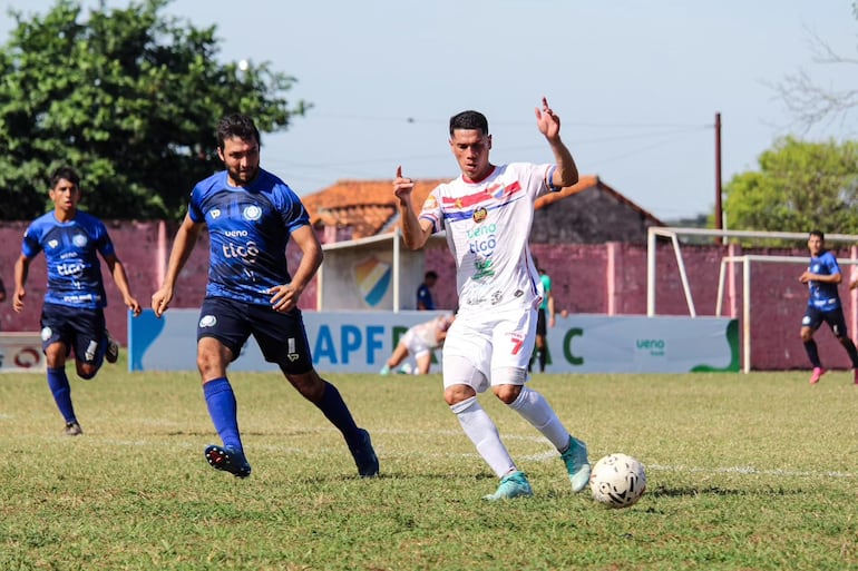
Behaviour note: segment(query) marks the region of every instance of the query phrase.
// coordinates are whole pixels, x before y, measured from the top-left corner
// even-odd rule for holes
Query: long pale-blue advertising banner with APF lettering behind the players
[[[304,312],[313,363],[376,373],[412,325],[437,312]],[[195,371],[197,309],[146,309],[128,319],[130,371]],[[739,371],[739,327],[727,317],[569,315],[548,328],[546,373]],[[440,372],[441,351],[430,372]],[[276,371],[251,338],[231,371]]]

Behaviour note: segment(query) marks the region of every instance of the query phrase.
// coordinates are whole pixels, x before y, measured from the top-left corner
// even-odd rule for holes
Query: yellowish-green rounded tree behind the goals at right
[[[730,229],[858,234],[858,144],[786,137],[725,186]]]

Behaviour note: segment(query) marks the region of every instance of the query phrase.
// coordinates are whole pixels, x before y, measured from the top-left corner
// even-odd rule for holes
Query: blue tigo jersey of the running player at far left
[[[97,253],[115,252],[101,220],[80,210],[66,223],[52,211],[36,218],[23,234],[21,254],[33,258],[42,250],[48,267],[45,303],[89,309],[107,305]]]

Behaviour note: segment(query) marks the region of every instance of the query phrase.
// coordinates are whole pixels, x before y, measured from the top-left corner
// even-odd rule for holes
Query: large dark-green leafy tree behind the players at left
[[[309,105],[270,62],[218,63],[216,27],[162,14],[169,0],[89,11],[58,0],[0,47],[0,219],[46,210],[59,165],[81,175],[81,208],[103,218],[178,218],[193,184],[222,168],[215,128],[227,112],[285,129]]]

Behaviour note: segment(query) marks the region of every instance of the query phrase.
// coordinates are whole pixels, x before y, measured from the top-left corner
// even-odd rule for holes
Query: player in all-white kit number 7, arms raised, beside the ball
[[[575,160],[560,140],[560,119],[545,98],[542,104],[536,125],[554,164],[493,165],[486,117],[464,111],[450,118],[450,149],[461,176],[435,188],[419,215],[411,200],[415,181],[402,176],[402,167],[393,180],[406,245],[421,248],[432,234],[447,230],[456,259],[459,312],[445,342],[443,397],[500,479],[487,500],[533,495],[526,474],[477,400],[489,386],[557,449],[574,492],[589,480],[586,445],[569,434],[542,394],[525,385],[544,294],[527,245],[534,201],[578,180]]]

